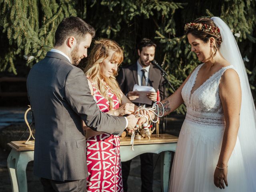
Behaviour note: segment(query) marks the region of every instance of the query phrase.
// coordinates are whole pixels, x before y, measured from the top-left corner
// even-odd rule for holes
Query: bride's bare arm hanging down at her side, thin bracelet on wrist
[[[221,186],[224,188],[224,184],[222,185],[219,181],[224,180],[226,186],[228,185],[226,167],[228,166],[228,160],[236,145],[240,124],[242,92],[238,74],[234,70],[228,69],[224,72],[220,81],[219,90],[226,128],[217,166],[225,169],[216,168],[214,173],[214,184],[217,187]]]

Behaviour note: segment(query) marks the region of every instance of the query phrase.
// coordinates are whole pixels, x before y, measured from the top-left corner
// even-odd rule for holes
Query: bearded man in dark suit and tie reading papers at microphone
[[[160,100],[163,99],[164,94],[164,78],[158,68],[151,64],[154,60],[156,51],[156,44],[148,38],[143,38],[138,44],[138,60],[135,64],[121,68],[118,72],[117,81],[120,84],[120,88],[124,94],[136,105],[151,106],[153,102],[157,100],[157,90],[160,91]],[[134,87],[135,86],[135,87]],[[133,91],[134,88],[141,88],[140,86],[151,86],[154,90],[148,92],[146,97],[151,100],[151,104],[140,103],[140,97],[142,92]],[[143,87],[142,87],[143,88]],[[138,89],[137,89],[138,90]],[[145,96],[145,95],[144,95]],[[139,100],[139,103],[136,102]],[[132,160],[122,162],[122,178],[124,192],[127,191],[127,180],[130,172],[130,163]],[[141,164],[141,191],[152,192],[153,185],[153,154],[144,153],[140,155]]]

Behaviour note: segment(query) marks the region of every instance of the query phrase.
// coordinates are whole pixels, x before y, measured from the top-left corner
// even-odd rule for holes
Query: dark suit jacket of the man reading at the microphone
[[[120,88],[124,94],[127,94],[129,91],[132,91],[133,86],[138,84],[138,67],[137,63],[121,68],[116,77]],[[161,75],[161,72],[158,68],[150,64],[149,73],[148,73],[148,86],[154,87],[155,90],[159,89],[160,100],[163,100],[163,95],[166,95],[166,90],[164,90],[164,78]]]

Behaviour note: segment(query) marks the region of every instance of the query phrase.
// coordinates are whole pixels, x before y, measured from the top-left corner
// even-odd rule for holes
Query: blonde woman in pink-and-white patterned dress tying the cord
[[[102,112],[123,116],[132,114],[134,106],[122,93],[116,82],[118,66],[123,61],[123,51],[109,39],[94,42],[88,57],[86,76],[91,94]],[[88,192],[122,192],[119,136],[96,132],[86,128]]]

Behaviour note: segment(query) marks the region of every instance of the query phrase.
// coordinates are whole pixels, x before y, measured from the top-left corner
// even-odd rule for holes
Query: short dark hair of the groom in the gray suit
[[[55,46],[62,45],[71,36],[74,36],[79,44],[87,34],[90,34],[94,38],[95,30],[84,20],[78,17],[64,18],[55,32]]]

